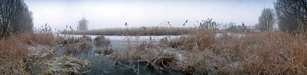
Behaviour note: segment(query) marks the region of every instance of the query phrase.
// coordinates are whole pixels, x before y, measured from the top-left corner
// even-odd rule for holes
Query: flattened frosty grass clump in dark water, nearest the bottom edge
[[[51,60],[41,62],[45,64],[44,70],[41,74],[54,75],[54,74],[80,74],[79,70],[89,67],[90,62],[87,60],[82,61],[78,57],[73,57],[72,54],[64,57],[57,57]]]

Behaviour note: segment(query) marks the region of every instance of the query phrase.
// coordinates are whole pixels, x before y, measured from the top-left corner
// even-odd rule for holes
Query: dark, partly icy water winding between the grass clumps
[[[80,36],[80,35],[78,35]],[[123,37],[122,36],[106,36],[108,38],[111,39],[111,45],[108,45],[108,46],[103,46],[103,45],[99,45],[99,44],[92,44],[93,45],[93,48],[90,48],[88,51],[82,51],[82,52],[79,52],[79,53],[74,53],[72,54],[74,57],[78,56],[78,58],[82,59],[82,60],[88,60],[90,61],[90,65],[91,67],[89,68],[84,68],[82,70],[80,70],[80,73],[82,72],[86,72],[88,70],[91,70],[90,72],[88,73],[85,73],[85,74],[90,74],[90,75],[93,75],[93,74],[104,74],[104,75],[135,75],[137,74],[136,72],[134,72],[134,70],[132,69],[123,69],[123,68],[126,68],[125,66],[115,66],[113,65],[114,63],[114,60],[113,59],[110,59],[110,60],[100,60],[103,56],[105,56],[105,54],[101,53],[101,54],[98,54],[98,53],[95,53],[94,51],[96,49],[103,49],[105,47],[109,47],[109,48],[117,48],[118,50],[124,48],[124,43],[123,41]],[[158,36],[157,38],[155,39],[160,39],[160,38],[163,38],[163,37],[166,37],[166,36]],[[95,38],[95,36],[91,36],[91,38]],[[148,36],[143,36],[143,38],[141,38],[140,40],[148,40],[146,38],[149,38]],[[134,43],[136,44],[137,42],[136,41],[133,41],[133,38],[131,39],[131,43]],[[61,56],[64,56],[66,54],[63,53],[64,51],[64,47],[58,47],[58,53],[56,54],[53,54],[53,55],[49,55],[47,57],[44,57],[42,59],[52,59],[52,58],[56,58],[56,57],[61,57]],[[184,73],[183,72],[180,72],[180,71],[170,71],[170,70],[167,70],[167,71],[164,71],[162,70],[160,73],[160,71],[158,72],[157,70],[154,70],[152,68],[150,68],[150,66],[146,66],[146,63],[139,63],[139,64],[135,64],[136,66],[139,67],[139,74],[142,74],[142,75],[183,75]],[[146,66],[146,67],[145,67]]]

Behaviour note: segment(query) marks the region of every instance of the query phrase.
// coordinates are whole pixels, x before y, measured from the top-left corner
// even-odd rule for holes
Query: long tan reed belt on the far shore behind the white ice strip
[[[104,28],[104,29],[95,29],[87,31],[67,31],[76,35],[105,35],[105,36],[121,36],[121,35],[130,35],[135,36],[138,33],[140,36],[162,36],[162,35],[183,35],[188,34],[189,32],[194,31],[192,28],[185,27],[131,27],[131,28]],[[68,33],[63,33],[68,34]]]

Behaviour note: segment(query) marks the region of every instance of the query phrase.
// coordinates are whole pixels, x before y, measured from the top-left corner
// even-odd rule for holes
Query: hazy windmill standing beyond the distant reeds
[[[84,16],[84,11],[83,11],[83,16]],[[79,31],[88,30],[87,23],[88,23],[88,21],[85,20],[85,16],[84,16],[84,18],[82,17],[82,20],[80,20],[79,23],[78,23],[77,30],[79,30]]]

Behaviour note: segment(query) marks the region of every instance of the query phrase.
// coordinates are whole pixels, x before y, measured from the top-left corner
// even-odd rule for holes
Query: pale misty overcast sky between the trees
[[[263,8],[275,0],[25,0],[33,12],[34,27],[50,25],[76,29],[78,21],[89,21],[88,29],[158,26],[169,21],[174,27],[193,27],[212,18],[219,23],[254,25]],[[66,29],[66,28],[65,28]]]

